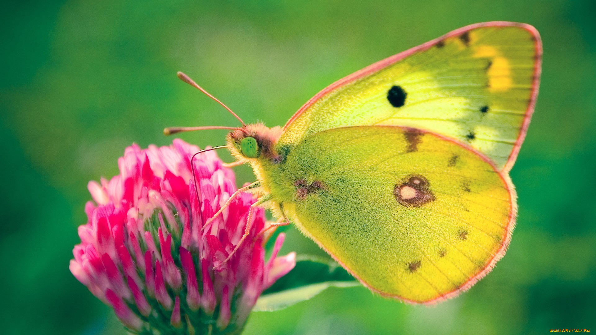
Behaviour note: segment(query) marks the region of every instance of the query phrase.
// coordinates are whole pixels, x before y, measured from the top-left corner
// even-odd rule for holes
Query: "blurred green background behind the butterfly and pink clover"
[[[470,23],[533,24],[544,41],[536,112],[511,177],[519,220],[484,280],[426,308],[329,289],[244,334],[545,334],[596,331],[596,2],[47,1],[0,14],[0,333],[123,334],[68,269],[86,184],[117,173],[164,126],[285,121],[334,80]],[[225,131],[184,134],[224,144]],[[229,161],[226,153],[222,158]],[[253,181],[237,168],[238,184]],[[285,251],[321,252],[291,228]]]

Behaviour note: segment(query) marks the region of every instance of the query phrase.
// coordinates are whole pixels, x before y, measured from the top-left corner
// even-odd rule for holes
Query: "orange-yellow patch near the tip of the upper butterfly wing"
[[[511,77],[511,64],[494,46],[478,45],[474,47],[474,57],[490,58],[486,76],[488,76],[488,89],[491,92],[505,92],[513,86]]]

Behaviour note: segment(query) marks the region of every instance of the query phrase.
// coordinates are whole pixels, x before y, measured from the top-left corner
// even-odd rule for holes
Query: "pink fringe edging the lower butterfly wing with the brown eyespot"
[[[359,126],[354,126],[354,127],[359,127]],[[403,128],[403,129],[411,129],[409,127],[405,127],[405,126],[378,126],[378,127],[390,127],[390,128]],[[325,252],[331,256],[331,258],[333,258],[334,260],[336,260],[337,263],[339,263],[339,265],[342,266],[342,268],[346,269],[347,272],[349,272],[350,275],[352,275],[352,277],[356,278],[364,287],[367,287],[367,289],[373,291],[374,293],[379,294],[380,296],[383,297],[390,297],[393,299],[398,299],[401,300],[402,302],[405,303],[410,303],[412,305],[427,305],[427,306],[432,306],[435,305],[436,303],[451,299],[453,297],[458,296],[460,293],[467,291],[468,289],[470,289],[470,287],[474,286],[474,284],[477,283],[477,281],[481,280],[482,278],[484,278],[489,272],[491,272],[491,270],[495,267],[496,262],[498,262],[501,258],[503,258],[503,256],[505,256],[505,253],[507,252],[507,249],[509,247],[509,244],[511,242],[511,234],[513,234],[513,229],[516,226],[516,218],[517,218],[517,193],[515,190],[515,187],[513,185],[513,182],[511,182],[511,178],[509,177],[509,174],[507,172],[501,171],[499,170],[495,163],[485,154],[481,153],[480,151],[474,149],[473,147],[471,147],[468,144],[465,144],[463,142],[458,141],[457,139],[454,138],[449,138],[449,137],[445,137],[443,135],[440,134],[436,134],[434,132],[431,131],[426,131],[426,130],[422,130],[422,132],[426,133],[426,134],[431,134],[434,135],[438,138],[441,139],[445,139],[445,141],[449,141],[452,142],[454,144],[460,145],[460,147],[463,147],[467,150],[472,151],[473,153],[477,154],[482,160],[484,160],[486,163],[488,163],[493,170],[499,175],[499,177],[501,177],[501,181],[503,182],[503,184],[505,185],[505,187],[507,188],[507,191],[509,193],[509,198],[510,198],[510,207],[509,207],[509,217],[508,217],[508,221],[507,221],[507,226],[505,226],[505,232],[503,235],[503,238],[501,240],[501,246],[499,247],[499,249],[496,251],[495,255],[493,255],[488,262],[486,262],[486,265],[480,269],[480,271],[478,271],[476,274],[471,275],[470,277],[467,278],[467,280],[465,281],[464,284],[462,284],[462,286],[458,287],[455,290],[449,291],[447,293],[444,294],[440,294],[438,297],[432,299],[432,300],[428,300],[428,301],[415,301],[415,300],[409,300],[409,299],[405,299],[401,296],[398,295],[393,295],[393,294],[388,294],[385,293],[383,291],[377,290],[374,287],[370,286],[366,281],[362,280],[362,278],[358,277],[358,275],[356,275],[352,269],[348,268],[341,260],[339,260],[330,250],[328,250],[323,244],[321,244],[318,240],[316,240],[315,237],[313,237],[311,234],[309,234],[308,232],[306,232],[304,229],[300,229],[303,233],[305,233],[306,235],[308,235],[308,237],[310,237],[313,241],[315,241],[316,244],[318,244],[319,247],[321,247],[321,249],[325,250]],[[425,279],[426,280],[426,279]]]

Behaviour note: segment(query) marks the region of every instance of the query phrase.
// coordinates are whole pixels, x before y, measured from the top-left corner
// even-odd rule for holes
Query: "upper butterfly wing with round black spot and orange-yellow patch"
[[[328,86],[294,114],[278,143],[340,126],[409,126],[465,142],[509,170],[538,94],[541,55],[527,24],[463,27]]]

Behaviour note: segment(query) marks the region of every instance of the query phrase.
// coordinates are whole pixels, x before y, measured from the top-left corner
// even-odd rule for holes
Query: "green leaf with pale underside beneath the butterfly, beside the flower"
[[[328,287],[352,287],[360,283],[332,260],[300,256],[288,274],[265,290],[253,311],[277,311],[311,299]]]

